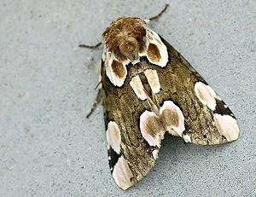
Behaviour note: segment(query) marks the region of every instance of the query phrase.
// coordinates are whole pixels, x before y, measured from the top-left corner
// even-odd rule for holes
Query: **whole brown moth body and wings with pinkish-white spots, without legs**
[[[166,132],[215,145],[238,138],[230,108],[182,55],[137,17],[120,17],[102,34],[100,96],[109,167],[119,188],[154,166]]]

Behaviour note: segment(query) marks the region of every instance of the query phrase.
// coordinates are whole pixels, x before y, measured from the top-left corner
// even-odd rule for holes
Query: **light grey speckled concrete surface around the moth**
[[[241,137],[202,147],[167,136],[154,169],[135,187],[113,183],[97,43],[119,15],[148,18],[166,1],[0,3],[0,196],[255,196],[256,3],[170,1],[151,26],[180,51],[235,113]]]

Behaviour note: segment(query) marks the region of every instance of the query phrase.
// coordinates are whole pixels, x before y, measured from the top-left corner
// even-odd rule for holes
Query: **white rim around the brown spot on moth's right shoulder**
[[[167,52],[167,48],[166,48],[166,45],[161,41],[159,35],[152,31],[151,29],[149,28],[146,28],[146,47],[148,49],[148,45],[149,43],[154,43],[159,51],[160,51],[160,61],[151,61],[149,58],[148,58],[148,54],[147,54],[147,51],[143,51],[143,53],[140,53],[139,55],[140,56],[147,56],[148,58],[148,61],[155,64],[155,65],[158,65],[160,67],[166,67],[166,64],[168,62],[168,52]]]

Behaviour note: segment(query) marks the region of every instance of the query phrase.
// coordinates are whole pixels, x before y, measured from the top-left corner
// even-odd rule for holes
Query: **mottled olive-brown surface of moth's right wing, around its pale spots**
[[[195,84],[207,85],[201,75],[174,49],[170,43],[164,39],[169,54],[169,62],[164,69],[156,67],[159,73],[161,89],[158,95],[160,103],[166,100],[172,100],[181,108],[185,118],[185,130],[183,135],[188,134],[191,142],[197,144],[220,144],[236,140],[238,130],[235,136],[225,136],[225,133],[219,128],[214,118],[216,115],[227,115],[235,119],[230,108],[226,106],[219,96],[214,96],[216,106],[212,109],[204,105],[196,96]],[[208,86],[209,87],[209,86]],[[203,89],[204,87],[200,87]],[[207,92],[206,92],[207,94]],[[221,119],[221,118],[220,118]],[[229,119],[225,122],[229,123]],[[233,129],[233,128],[231,128]],[[238,128],[237,128],[238,129]]]

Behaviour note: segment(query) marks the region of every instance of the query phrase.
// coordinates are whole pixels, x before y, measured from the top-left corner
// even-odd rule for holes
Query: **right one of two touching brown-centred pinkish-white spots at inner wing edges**
[[[164,101],[160,107],[160,117],[168,130],[174,136],[182,136],[184,126],[184,116],[182,111],[172,101]]]

